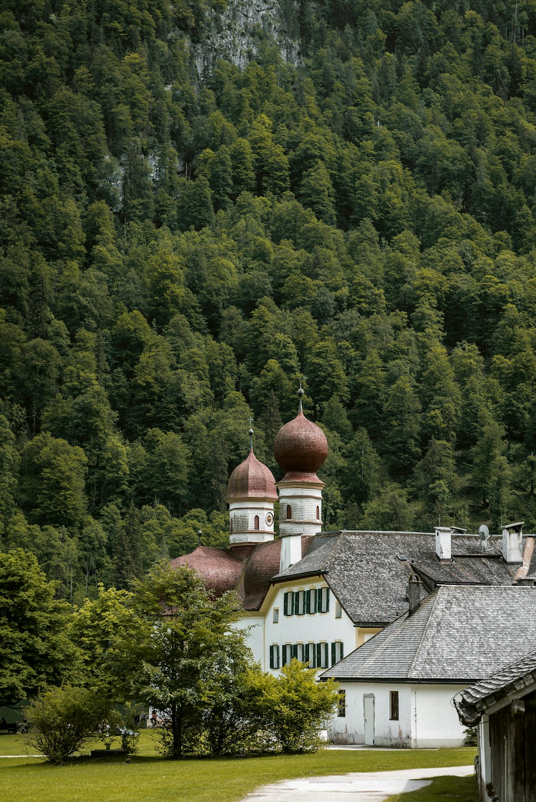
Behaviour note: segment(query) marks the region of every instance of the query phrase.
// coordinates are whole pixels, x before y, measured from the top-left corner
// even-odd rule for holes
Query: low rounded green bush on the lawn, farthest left
[[[108,699],[86,688],[66,686],[47,691],[25,709],[26,741],[51,763],[61,765],[104,731]]]

